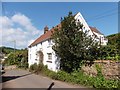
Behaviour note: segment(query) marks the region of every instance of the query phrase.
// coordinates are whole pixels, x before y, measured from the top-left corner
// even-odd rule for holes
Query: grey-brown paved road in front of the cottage
[[[53,82],[52,88],[85,88],[16,69],[6,71],[2,81],[2,88],[50,88]]]

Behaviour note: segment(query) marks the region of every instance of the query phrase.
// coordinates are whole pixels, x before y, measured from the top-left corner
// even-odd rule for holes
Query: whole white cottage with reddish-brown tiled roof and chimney
[[[84,31],[90,30],[88,34],[96,36],[96,41],[100,41],[102,45],[107,44],[108,40],[104,37],[104,35],[100,33],[100,31],[98,31],[96,28],[88,26],[80,12],[75,15],[75,19],[83,24]],[[54,28],[61,28],[61,24],[58,24]],[[44,28],[44,34],[38,37],[31,45],[29,45],[29,66],[34,63],[38,64],[42,62],[44,65],[47,65],[48,69],[50,70],[59,70],[59,58],[57,57],[55,51],[52,49],[54,43],[51,40],[51,35],[52,31],[54,31],[54,28],[48,30],[48,27],[46,26]]]

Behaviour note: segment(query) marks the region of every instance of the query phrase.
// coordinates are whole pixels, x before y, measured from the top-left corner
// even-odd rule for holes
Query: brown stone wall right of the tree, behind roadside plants
[[[91,66],[83,65],[82,71],[87,75],[97,76],[96,64],[101,67],[101,72],[106,79],[120,79],[120,62],[97,60]]]

